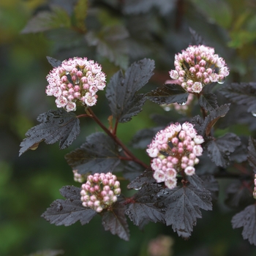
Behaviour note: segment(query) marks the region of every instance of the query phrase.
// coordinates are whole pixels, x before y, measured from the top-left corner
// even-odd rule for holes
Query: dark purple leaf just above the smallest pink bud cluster
[[[102,132],[89,135],[86,143],[67,154],[65,159],[80,174],[113,172],[120,163],[116,143]]]

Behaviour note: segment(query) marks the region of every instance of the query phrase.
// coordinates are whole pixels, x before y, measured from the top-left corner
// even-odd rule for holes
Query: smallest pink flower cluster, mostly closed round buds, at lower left
[[[95,173],[89,175],[87,181],[82,185],[80,192],[84,207],[89,207],[97,212],[108,208],[116,202],[120,195],[120,182],[112,173]]]

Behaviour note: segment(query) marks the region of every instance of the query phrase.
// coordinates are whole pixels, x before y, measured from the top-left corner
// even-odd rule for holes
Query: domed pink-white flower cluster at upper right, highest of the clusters
[[[208,83],[224,83],[229,75],[225,60],[205,45],[189,46],[176,54],[174,65],[170,78],[178,79],[182,88],[191,93],[199,94]]]

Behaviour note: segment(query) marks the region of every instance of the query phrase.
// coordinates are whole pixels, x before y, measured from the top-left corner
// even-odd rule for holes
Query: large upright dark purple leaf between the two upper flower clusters
[[[133,63],[125,75],[120,70],[110,79],[106,97],[113,117],[119,122],[130,121],[142,110],[146,98],[136,92],[148,83],[153,70],[154,61],[143,59]]]

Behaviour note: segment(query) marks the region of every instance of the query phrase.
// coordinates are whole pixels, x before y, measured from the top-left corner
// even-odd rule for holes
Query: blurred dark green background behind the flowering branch
[[[45,94],[51,69],[46,56],[87,56],[102,64],[108,79],[133,61],[154,59],[155,75],[146,88],[150,91],[165,83],[174,54],[191,42],[189,27],[226,60],[227,82],[256,81],[255,0],[0,1],[0,255],[256,255],[241,229],[231,227],[236,211],[223,203],[228,183],[223,179],[214,211],[203,211],[188,241],[162,224],[150,223],[143,230],[130,225],[126,242],[105,232],[99,217],[70,227],[42,219],[50,203],[61,198],[61,187],[80,186],[64,155],[100,130],[90,120],[81,122],[80,135],[69,148],[60,151],[57,143],[41,143],[18,157],[20,142],[37,124],[37,116],[56,109]],[[104,93],[99,94],[94,112],[106,125],[107,106]],[[129,143],[138,129],[154,126],[151,113],[164,110],[146,102],[142,113],[120,125],[121,140]],[[145,151],[135,153],[149,161]],[[165,247],[167,254],[159,254]],[[158,254],[155,248],[160,248]]]

